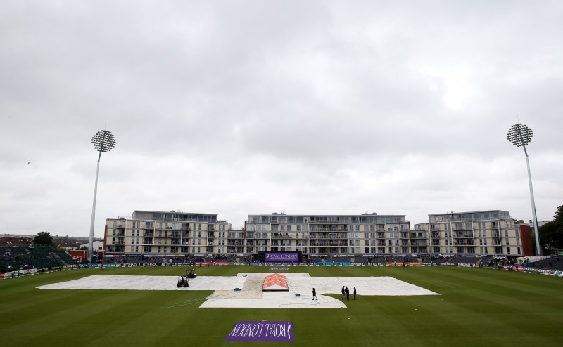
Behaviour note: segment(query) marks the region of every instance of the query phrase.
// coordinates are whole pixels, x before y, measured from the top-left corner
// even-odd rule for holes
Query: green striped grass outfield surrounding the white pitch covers
[[[0,280],[1,346],[248,346],[224,339],[235,322],[261,320],[293,322],[295,342],[250,346],[563,346],[563,278],[491,268],[290,266],[311,276],[391,276],[441,294],[358,293],[348,308],[198,308],[210,291],[36,288],[89,275],[180,275],[186,268],[80,269]],[[232,276],[268,268],[196,270]],[[196,304],[177,306],[189,300]]]

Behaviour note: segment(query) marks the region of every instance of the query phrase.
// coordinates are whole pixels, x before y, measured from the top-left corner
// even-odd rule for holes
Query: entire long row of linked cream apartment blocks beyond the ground
[[[106,254],[166,256],[260,251],[521,256],[522,237],[509,213],[500,210],[429,214],[428,223],[412,230],[405,215],[250,214],[243,230],[232,230],[217,214],[134,211],[132,218],[107,219],[104,249]]]

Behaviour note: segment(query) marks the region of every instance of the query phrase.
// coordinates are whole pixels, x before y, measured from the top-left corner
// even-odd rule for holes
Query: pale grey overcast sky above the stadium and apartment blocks
[[[563,204],[562,1],[0,3],[0,233]],[[28,162],[30,162],[28,164]]]

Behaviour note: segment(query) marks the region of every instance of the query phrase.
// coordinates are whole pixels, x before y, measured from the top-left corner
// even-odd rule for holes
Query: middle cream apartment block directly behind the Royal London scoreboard
[[[312,256],[426,253],[427,233],[409,226],[405,215],[251,214],[229,251],[301,251]]]

